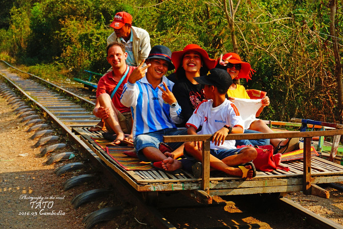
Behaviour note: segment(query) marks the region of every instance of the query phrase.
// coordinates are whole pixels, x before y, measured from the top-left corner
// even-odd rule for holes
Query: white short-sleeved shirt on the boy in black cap
[[[243,128],[243,120],[239,116],[235,104],[225,99],[225,101],[218,107],[212,107],[213,101],[204,100],[199,104],[197,109],[190,116],[186,123],[186,126],[193,126],[198,129],[199,126],[203,126],[198,134],[214,134],[216,131],[224,127],[229,126],[240,126]],[[226,140],[223,144],[214,145],[211,142],[211,149],[235,149],[235,140]]]

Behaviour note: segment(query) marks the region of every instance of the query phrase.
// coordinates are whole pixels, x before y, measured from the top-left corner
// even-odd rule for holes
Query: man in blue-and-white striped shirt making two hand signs
[[[142,161],[159,162],[167,157],[158,149],[163,135],[185,135],[175,123],[181,123],[181,107],[172,91],[174,83],[164,74],[174,69],[169,48],[154,46],[146,66],[144,61],[135,69],[124,85],[121,103],[131,107],[133,138],[137,156]],[[145,74],[145,69],[147,72]],[[178,148],[182,143],[169,143]]]

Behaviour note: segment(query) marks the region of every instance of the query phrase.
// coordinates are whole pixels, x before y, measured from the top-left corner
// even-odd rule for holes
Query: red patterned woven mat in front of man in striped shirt
[[[125,149],[124,149],[125,148]],[[128,149],[129,148],[129,149]],[[108,146],[107,154],[125,170],[154,170],[150,162],[143,162],[138,158],[129,157],[123,154],[124,151],[133,149],[132,146]]]

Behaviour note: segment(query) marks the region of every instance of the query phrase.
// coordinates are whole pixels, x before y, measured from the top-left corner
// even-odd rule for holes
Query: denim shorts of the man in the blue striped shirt
[[[163,129],[148,134],[141,134],[134,139],[134,148],[137,151],[137,157],[142,161],[149,161],[144,154],[142,149],[146,147],[159,147],[159,143],[163,142],[163,136],[167,135],[187,135],[187,129]],[[171,148],[176,149],[183,143],[167,143]]]

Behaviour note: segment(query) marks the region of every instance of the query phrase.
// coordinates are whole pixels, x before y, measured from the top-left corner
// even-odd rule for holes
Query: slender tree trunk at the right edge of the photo
[[[335,57],[335,78],[337,81],[337,98],[338,98],[338,109],[339,109],[339,120],[343,123],[343,82],[342,82],[342,63],[339,54],[339,43],[337,42],[336,28],[335,28],[335,16],[336,16],[336,0],[330,0],[330,35],[332,38],[332,47]]]

